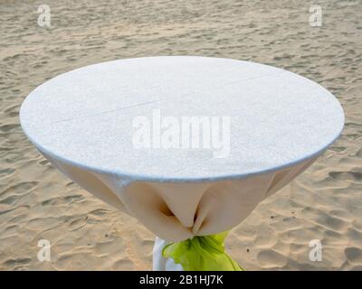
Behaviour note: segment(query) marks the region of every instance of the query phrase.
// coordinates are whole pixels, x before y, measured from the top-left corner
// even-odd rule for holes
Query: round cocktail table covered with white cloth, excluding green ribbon
[[[64,73],[25,98],[20,121],[55,167],[158,237],[162,270],[192,268],[166,244],[238,225],[336,140],[344,114],[289,71],[170,56]]]

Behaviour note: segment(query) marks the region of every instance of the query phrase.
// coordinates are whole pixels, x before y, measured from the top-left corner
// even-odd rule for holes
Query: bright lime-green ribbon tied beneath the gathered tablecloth
[[[185,241],[168,244],[162,256],[174,259],[185,271],[243,271],[231,256],[225,253],[224,238],[229,231],[210,236],[195,236]]]

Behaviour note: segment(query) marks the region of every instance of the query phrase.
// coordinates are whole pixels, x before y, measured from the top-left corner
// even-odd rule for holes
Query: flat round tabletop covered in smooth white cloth
[[[344,126],[338,100],[310,79],[192,56],[72,70],[34,89],[20,120],[55,159],[159,182],[276,171],[321,154]]]

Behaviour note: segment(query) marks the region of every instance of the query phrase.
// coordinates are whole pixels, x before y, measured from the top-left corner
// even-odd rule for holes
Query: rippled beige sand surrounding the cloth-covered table
[[[19,107],[46,79],[81,66],[150,55],[271,64],[319,82],[346,113],[343,135],[227,239],[248,270],[362,269],[362,3],[319,1],[0,0],[0,269],[149,270],[153,236],[64,177],[25,138]],[[320,107],[322,109],[322,107]],[[40,239],[51,262],[37,258]],[[309,259],[321,240],[322,261]]]

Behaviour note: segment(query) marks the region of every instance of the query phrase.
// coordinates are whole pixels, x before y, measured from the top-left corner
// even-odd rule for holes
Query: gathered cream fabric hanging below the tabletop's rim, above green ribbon
[[[171,242],[214,235],[235,227],[259,202],[291,182],[316,159],[239,180],[145,182],[91,172],[44,155],[85,190],[138,219],[159,238]]]

